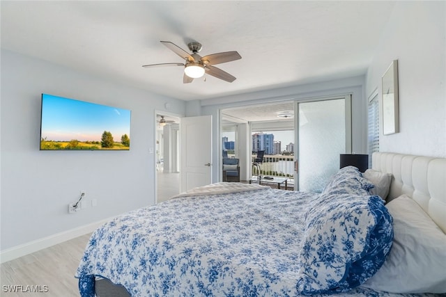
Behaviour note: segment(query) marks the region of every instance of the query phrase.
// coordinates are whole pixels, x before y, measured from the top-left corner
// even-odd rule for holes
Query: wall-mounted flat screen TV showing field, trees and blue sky
[[[130,150],[130,111],[42,94],[40,150]]]

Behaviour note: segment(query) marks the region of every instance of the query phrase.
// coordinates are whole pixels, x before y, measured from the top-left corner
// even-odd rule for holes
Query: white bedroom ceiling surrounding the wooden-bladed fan
[[[388,1],[0,1],[1,47],[183,100],[208,99],[365,74],[394,3]],[[160,40],[237,79],[183,84]]]

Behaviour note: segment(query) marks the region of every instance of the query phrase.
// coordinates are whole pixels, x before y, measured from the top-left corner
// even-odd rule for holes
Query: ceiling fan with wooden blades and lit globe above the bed
[[[161,43],[171,49],[171,51],[174,51],[175,54],[183,58],[185,60],[185,63],[160,63],[143,65],[142,67],[183,66],[183,83],[192,83],[194,79],[202,77],[205,72],[209,75],[212,75],[213,77],[217,77],[217,79],[222,79],[229,83],[236,80],[236,77],[233,77],[228,72],[224,72],[220,68],[217,68],[213,65],[241,59],[242,57],[238,54],[237,51],[224,51],[222,53],[210,54],[208,56],[202,57],[198,54],[202,48],[199,42],[190,42],[187,45],[190,51],[192,51],[192,54],[189,54],[187,51],[178,47],[178,45],[175,45],[172,42],[161,41]]]

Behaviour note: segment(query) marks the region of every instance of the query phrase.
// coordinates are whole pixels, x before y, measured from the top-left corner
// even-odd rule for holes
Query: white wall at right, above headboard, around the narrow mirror
[[[446,157],[445,1],[395,3],[367,72],[367,95],[375,88],[381,94],[381,77],[394,59],[400,133],[383,136],[380,111],[380,151]]]

